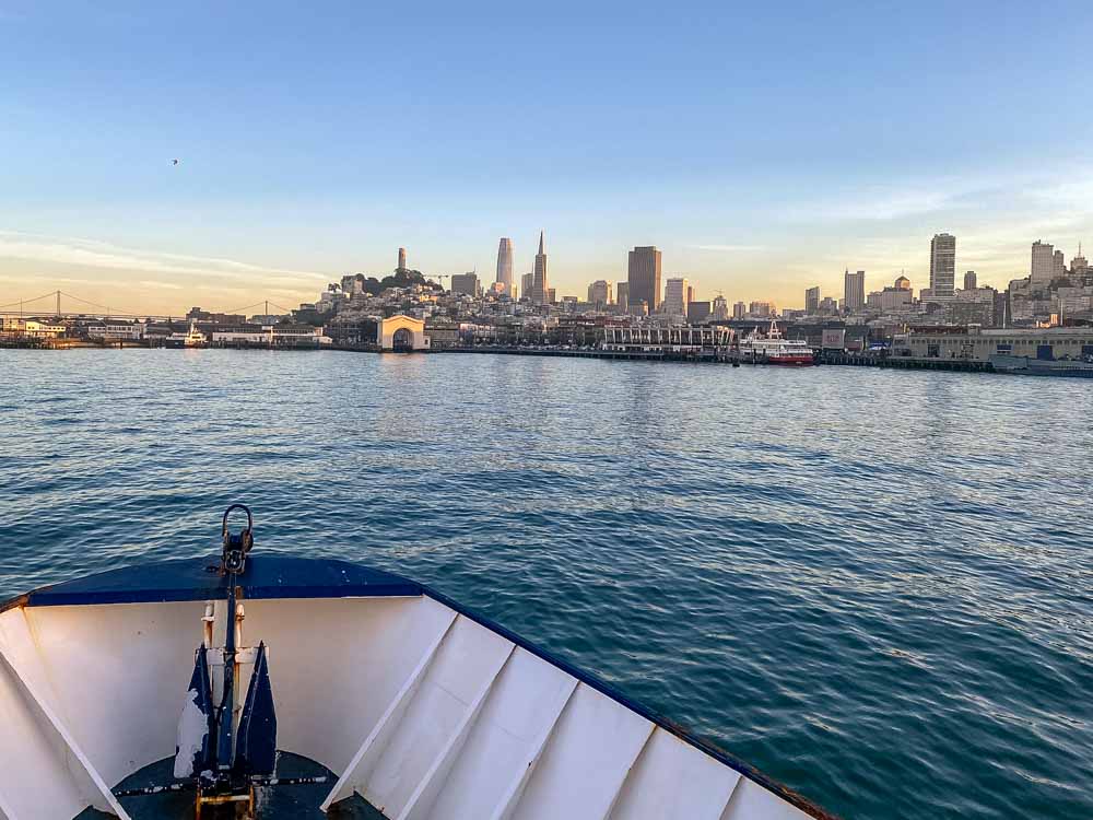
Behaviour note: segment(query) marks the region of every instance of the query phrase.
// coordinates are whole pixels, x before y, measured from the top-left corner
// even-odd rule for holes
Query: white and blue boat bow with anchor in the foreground
[[[219,561],[0,605],[0,818],[828,817],[421,584],[250,555],[238,506]]]

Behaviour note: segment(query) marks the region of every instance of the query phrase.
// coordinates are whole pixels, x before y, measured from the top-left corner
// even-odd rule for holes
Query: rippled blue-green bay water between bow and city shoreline
[[[146,350],[0,382],[0,596],[210,553],[240,501],[258,550],[433,584],[846,817],[1093,817],[1093,383]]]

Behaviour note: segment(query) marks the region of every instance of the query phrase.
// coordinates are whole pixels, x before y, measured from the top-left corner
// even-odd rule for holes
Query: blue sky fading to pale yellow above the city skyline
[[[657,245],[794,307],[927,286],[942,231],[999,286],[1093,244],[1088,0],[0,0],[0,306],[292,307],[399,246],[490,282],[545,230],[559,295]]]

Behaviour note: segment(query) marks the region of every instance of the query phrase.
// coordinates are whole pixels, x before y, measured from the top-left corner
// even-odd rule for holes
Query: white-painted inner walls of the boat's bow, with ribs
[[[392,820],[806,818],[432,598],[246,607],[248,643],[278,656],[279,747],[339,775],[324,808],[357,792]],[[0,613],[0,820],[71,818],[87,805],[124,817],[108,785],[171,757],[176,739],[179,760],[192,760],[205,719],[195,692],[179,719],[178,695],[195,648],[223,643],[225,610],[193,601]],[[211,666],[219,659],[210,653]]]

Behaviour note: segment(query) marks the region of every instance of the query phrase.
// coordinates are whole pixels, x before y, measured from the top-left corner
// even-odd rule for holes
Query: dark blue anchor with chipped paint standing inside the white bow
[[[235,511],[246,513],[247,525],[236,534],[228,529]],[[162,786],[119,789],[117,797],[137,797],[162,792],[196,790],[195,820],[203,807],[232,807],[232,815],[251,819],[256,812],[255,789],[324,783],[326,777],[277,777],[277,712],[270,683],[269,653],[265,642],[243,646],[243,604],[239,578],[246,572],[247,554],[255,546],[254,516],[243,504],[224,512],[221,528],[223,552],[219,566],[209,570],[224,578],[227,587],[226,626],[223,646],[213,645],[215,607],[205,604],[203,640],[193,654],[193,673],[186,692],[175,747],[175,782]],[[240,666],[252,664],[246,699],[239,708],[236,694]],[[220,669],[220,701],[214,696],[213,670]]]

